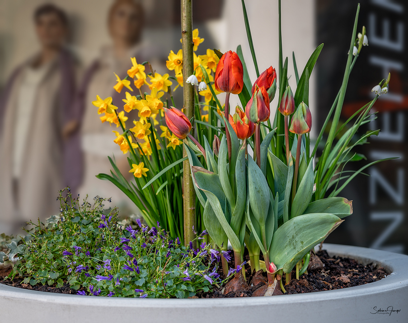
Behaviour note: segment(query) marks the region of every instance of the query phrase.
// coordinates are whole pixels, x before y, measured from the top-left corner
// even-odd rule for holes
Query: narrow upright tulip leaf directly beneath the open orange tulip
[[[246,141],[242,143],[238,151],[237,163],[235,166],[235,182],[237,185],[237,200],[231,215],[231,228],[235,233],[239,233],[242,226],[246,204],[246,163],[245,163]]]

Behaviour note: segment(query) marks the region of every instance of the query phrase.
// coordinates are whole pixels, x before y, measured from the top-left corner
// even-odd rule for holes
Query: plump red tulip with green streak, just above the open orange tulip
[[[245,107],[245,114],[249,121],[258,124],[269,119],[269,96],[264,86],[255,84],[255,91]]]

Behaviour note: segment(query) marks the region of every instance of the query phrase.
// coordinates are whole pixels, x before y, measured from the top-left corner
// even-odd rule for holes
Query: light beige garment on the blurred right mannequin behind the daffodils
[[[102,124],[99,118],[101,115],[98,115],[98,108],[92,104],[92,101],[96,100],[96,95],[99,95],[102,99],[113,96],[113,86],[116,84],[116,77],[113,73],[120,74],[129,69],[131,67],[130,58],[134,57],[139,49],[139,47],[133,48],[123,60],[115,59],[112,50],[109,48],[102,50],[102,55],[99,58],[100,66],[95,71],[88,85],[81,128],[81,146],[84,152],[84,179],[78,190],[80,197],[85,198],[86,195],[89,196],[89,199],[93,199],[95,196],[111,197],[112,202],[110,206],[120,207],[122,215],[137,212],[137,208],[129,197],[110,181],[104,181],[95,177],[95,175],[100,173],[111,175],[111,169],[113,168],[108,156],[115,157],[118,164],[126,163],[128,155],[124,155],[119,146],[113,142],[115,134],[112,131],[115,130],[121,133],[122,129],[116,128],[115,124],[109,126],[108,122]],[[134,90],[137,90],[133,84],[131,86]],[[122,91],[129,90],[123,88]],[[121,107],[119,104],[118,106]],[[130,125],[131,119],[133,117],[129,117],[126,124]],[[126,176],[126,174],[124,175]]]

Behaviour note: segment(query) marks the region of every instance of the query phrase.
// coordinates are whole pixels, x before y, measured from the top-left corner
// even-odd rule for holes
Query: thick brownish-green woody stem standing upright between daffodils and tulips
[[[190,120],[194,116],[194,87],[186,84],[187,77],[193,74],[193,4],[192,0],[181,0],[181,35],[183,51],[183,105],[184,113]],[[194,133],[192,133],[194,137]],[[183,157],[186,157],[183,149]],[[183,162],[183,211],[184,211],[184,245],[194,240],[195,223],[195,190],[191,178],[188,159]],[[195,247],[195,241],[193,242]]]

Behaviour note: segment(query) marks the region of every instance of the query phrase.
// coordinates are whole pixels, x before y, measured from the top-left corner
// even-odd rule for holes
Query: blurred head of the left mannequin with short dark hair
[[[65,12],[53,4],[44,4],[35,10],[34,22],[43,49],[60,49],[68,33]]]

